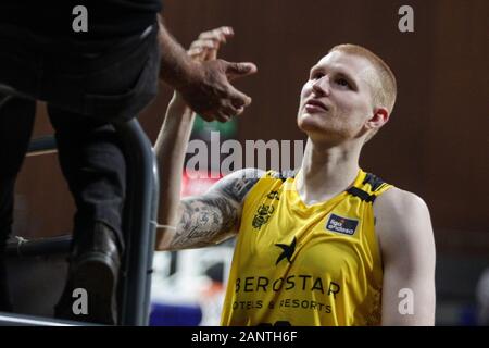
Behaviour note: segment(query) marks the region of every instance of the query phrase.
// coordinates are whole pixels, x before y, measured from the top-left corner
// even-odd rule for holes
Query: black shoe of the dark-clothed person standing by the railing
[[[54,315],[60,319],[115,325],[116,290],[121,254],[114,232],[102,223],[74,244],[68,277]],[[85,289],[87,303],[80,300]]]

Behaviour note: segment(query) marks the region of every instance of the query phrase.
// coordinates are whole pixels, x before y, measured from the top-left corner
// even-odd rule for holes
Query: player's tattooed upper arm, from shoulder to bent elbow
[[[246,196],[263,171],[244,169],[225,176],[202,196],[184,198],[178,204],[173,234],[159,243],[159,250],[199,248],[237,234]]]

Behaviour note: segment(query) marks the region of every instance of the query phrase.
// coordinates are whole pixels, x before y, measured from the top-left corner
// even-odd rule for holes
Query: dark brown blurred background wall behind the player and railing
[[[401,5],[414,33],[401,33]],[[437,244],[437,324],[474,324],[475,288],[489,266],[489,36],[487,0],[167,0],[163,16],[187,47],[222,25],[235,38],[221,50],[259,73],[236,85],[253,98],[234,138],[305,139],[296,126],[299,92],[329,48],[351,42],[380,55],[398,79],[389,124],[364,149],[361,166],[419,195]],[[154,141],[172,90],[139,120]],[[52,133],[38,104],[35,137]],[[73,200],[55,154],[27,158],[16,188],[15,234],[70,233]]]

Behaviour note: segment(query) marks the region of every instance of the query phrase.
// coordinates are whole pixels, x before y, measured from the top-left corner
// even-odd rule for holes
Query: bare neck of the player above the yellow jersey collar
[[[308,139],[297,189],[306,204],[326,201],[348,189],[359,173],[361,147],[322,146]]]

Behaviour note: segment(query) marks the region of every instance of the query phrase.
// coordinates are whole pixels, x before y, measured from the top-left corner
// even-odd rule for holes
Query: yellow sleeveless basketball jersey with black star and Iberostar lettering
[[[373,202],[392,186],[360,170],[348,190],[306,206],[299,175],[269,171],[248,194],[222,325],[380,324]]]

